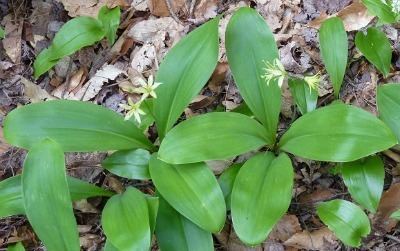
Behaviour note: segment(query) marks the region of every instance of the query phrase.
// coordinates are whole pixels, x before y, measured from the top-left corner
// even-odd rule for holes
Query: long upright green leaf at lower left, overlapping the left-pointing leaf
[[[26,216],[47,250],[79,251],[61,146],[50,139],[33,146],[24,162],[21,183]]]

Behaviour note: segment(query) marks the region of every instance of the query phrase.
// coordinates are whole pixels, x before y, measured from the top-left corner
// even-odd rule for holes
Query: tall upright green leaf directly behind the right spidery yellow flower
[[[267,85],[261,78],[264,62],[272,62],[279,56],[274,36],[263,17],[244,7],[230,19],[225,40],[229,66],[240,94],[267,129],[269,142],[274,143],[281,90],[276,82]]]

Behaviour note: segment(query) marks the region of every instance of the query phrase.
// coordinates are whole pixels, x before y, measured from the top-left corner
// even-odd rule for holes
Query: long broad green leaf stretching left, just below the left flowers
[[[119,114],[88,102],[54,100],[11,111],[4,137],[12,145],[31,148],[44,138],[57,141],[65,152],[151,149],[151,142]]]

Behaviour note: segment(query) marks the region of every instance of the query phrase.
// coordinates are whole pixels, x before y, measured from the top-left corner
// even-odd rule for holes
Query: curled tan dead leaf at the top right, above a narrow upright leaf
[[[321,23],[331,17],[340,17],[346,31],[355,31],[367,26],[374,16],[368,14],[367,8],[359,2],[354,2],[333,15],[322,13],[321,16],[308,23],[309,27],[319,29]]]

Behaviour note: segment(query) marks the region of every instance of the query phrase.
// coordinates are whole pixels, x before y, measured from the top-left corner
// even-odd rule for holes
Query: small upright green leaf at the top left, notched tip
[[[97,15],[97,19],[103,24],[104,33],[110,45],[113,45],[115,42],[120,17],[121,10],[119,6],[112,9],[103,6]]]

